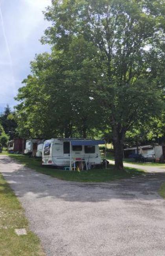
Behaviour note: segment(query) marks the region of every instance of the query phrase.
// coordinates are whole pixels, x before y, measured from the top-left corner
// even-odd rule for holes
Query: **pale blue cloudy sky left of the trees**
[[[42,11],[51,0],[0,0],[0,112],[13,99],[29,74],[36,53],[49,51],[40,37],[49,26]]]

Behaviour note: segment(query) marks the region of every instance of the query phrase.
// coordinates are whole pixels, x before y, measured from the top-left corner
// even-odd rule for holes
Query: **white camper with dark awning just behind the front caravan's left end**
[[[43,144],[43,139],[31,139],[26,141],[26,148],[24,150],[24,154],[31,154],[32,156],[37,156],[40,154],[38,152],[38,145]]]

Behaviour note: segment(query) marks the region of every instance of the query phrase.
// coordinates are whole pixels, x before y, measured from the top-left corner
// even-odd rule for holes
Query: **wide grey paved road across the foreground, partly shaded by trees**
[[[66,182],[0,156],[48,256],[164,256],[164,173],[104,184]]]

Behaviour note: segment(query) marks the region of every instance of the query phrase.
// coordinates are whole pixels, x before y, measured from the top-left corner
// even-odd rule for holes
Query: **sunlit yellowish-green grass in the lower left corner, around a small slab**
[[[15,228],[26,228],[27,235],[18,236]],[[24,210],[0,174],[0,256],[44,256],[40,241],[28,228]]]

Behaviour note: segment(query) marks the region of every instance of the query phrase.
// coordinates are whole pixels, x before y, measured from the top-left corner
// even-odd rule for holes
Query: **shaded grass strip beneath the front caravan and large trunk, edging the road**
[[[130,178],[134,175],[143,174],[143,171],[132,168],[125,168],[124,171],[118,171],[113,165],[109,165],[108,169],[92,169],[88,171],[63,171],[42,166],[41,160],[29,158],[24,155],[8,154],[11,158],[20,161],[27,167],[34,169],[39,173],[44,173],[61,180],[70,180],[76,182],[108,182],[111,180]]]

